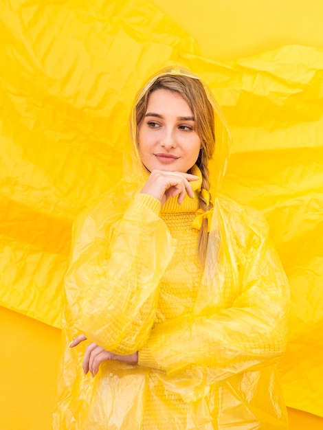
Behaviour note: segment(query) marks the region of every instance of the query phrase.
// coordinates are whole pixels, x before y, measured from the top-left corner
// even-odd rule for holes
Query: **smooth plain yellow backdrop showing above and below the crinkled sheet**
[[[236,60],[293,44],[323,48],[321,0],[151,3],[193,36],[201,56],[212,60]],[[0,308],[0,327],[0,429],[50,429],[60,332],[5,308]],[[323,427],[323,418],[289,412],[291,429]]]

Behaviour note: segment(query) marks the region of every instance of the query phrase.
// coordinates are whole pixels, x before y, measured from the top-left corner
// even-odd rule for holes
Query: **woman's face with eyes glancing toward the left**
[[[186,173],[199,157],[201,139],[194,115],[179,93],[157,89],[148,99],[139,126],[139,150],[144,166]]]

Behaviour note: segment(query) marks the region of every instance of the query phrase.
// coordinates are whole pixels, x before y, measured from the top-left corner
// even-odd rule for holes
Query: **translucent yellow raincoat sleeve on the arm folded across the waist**
[[[140,365],[215,383],[282,354],[289,293],[280,260],[267,232],[254,227],[238,252],[240,291],[232,305],[157,326],[139,352]]]

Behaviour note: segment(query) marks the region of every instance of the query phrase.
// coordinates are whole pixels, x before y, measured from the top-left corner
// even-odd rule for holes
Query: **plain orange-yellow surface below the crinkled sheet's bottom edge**
[[[0,307],[0,429],[50,430],[60,330]],[[289,409],[291,430],[321,430],[323,418]]]

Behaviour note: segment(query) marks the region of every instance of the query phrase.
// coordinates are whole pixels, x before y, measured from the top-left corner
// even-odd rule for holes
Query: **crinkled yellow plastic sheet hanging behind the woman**
[[[147,2],[0,8],[1,305],[60,325],[71,224],[120,178],[135,91],[178,61],[232,131],[223,191],[265,214],[289,277],[287,403],[323,416],[322,50],[219,63]]]

